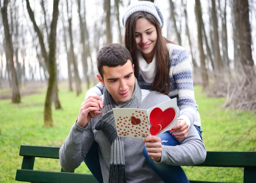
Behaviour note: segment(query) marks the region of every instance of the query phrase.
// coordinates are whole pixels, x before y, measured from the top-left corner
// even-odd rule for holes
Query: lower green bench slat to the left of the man
[[[91,174],[22,169],[17,170],[15,180],[37,183],[98,183]]]

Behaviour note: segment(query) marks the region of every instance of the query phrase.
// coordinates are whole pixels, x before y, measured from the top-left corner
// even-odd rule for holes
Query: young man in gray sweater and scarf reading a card
[[[180,145],[176,146],[162,145],[157,136],[143,140],[118,137],[113,107],[148,109],[170,98],[140,89],[134,76],[131,55],[120,44],[110,44],[100,49],[97,64],[100,74],[97,77],[105,85],[102,96],[104,109],[99,107],[98,96],[88,96],[81,104],[79,116],[59,151],[61,166],[65,171],[80,166],[94,141],[99,144],[104,183],[163,183],[146,162],[144,145],[155,163],[188,166],[204,162],[204,143],[193,125],[186,139],[178,140]],[[98,116],[92,118],[90,111],[98,111]]]

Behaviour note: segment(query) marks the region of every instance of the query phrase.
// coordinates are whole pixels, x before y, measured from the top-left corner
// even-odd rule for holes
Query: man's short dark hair
[[[131,53],[121,44],[108,44],[102,47],[97,53],[97,67],[100,76],[103,78],[102,67],[116,67],[126,64],[130,60],[132,63]]]

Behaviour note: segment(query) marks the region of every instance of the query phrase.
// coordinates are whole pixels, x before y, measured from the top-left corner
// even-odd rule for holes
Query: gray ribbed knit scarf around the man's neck
[[[121,102],[118,107],[138,108],[141,103],[141,96],[141,90],[135,78],[135,86],[131,99],[127,102]],[[96,124],[95,129],[101,130],[111,143],[109,183],[126,183],[124,139],[123,137],[117,136],[113,115],[113,100],[106,87],[104,89],[104,107],[102,117]]]

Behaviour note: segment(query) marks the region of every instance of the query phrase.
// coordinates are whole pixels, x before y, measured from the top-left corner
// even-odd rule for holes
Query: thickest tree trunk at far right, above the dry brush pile
[[[234,0],[235,20],[240,46],[240,63],[249,81],[255,79],[254,62],[251,49],[251,29],[248,0]]]

